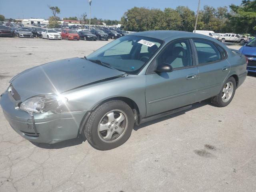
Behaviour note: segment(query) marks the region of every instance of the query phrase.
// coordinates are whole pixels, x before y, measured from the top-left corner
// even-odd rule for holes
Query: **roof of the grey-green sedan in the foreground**
[[[204,38],[208,40],[213,40],[212,37],[208,37],[206,35],[186,32],[186,31],[170,31],[170,30],[159,30],[159,31],[144,31],[144,32],[136,32],[132,33],[132,36],[146,36],[150,38],[156,38],[160,40],[165,40],[167,38]]]

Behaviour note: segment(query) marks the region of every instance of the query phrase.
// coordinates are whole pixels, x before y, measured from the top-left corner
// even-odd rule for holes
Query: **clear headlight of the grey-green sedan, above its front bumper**
[[[64,105],[68,99],[64,96],[44,95],[29,98],[20,104],[20,109],[29,114],[44,113],[48,111],[58,112],[59,108]]]

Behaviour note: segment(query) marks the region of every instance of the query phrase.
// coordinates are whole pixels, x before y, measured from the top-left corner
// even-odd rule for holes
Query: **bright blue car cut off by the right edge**
[[[256,73],[256,38],[242,46],[240,52],[248,59],[247,70]]]

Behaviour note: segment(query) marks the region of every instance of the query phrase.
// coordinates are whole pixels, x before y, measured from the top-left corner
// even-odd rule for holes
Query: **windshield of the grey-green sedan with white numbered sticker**
[[[161,44],[161,40],[154,38],[123,36],[96,50],[87,59],[100,60],[128,74],[138,74]]]

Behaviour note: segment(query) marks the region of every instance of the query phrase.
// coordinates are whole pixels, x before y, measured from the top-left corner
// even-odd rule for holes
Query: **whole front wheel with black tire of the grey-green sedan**
[[[134,114],[128,104],[113,100],[100,105],[88,118],[84,136],[98,150],[116,148],[128,140],[134,126]]]

